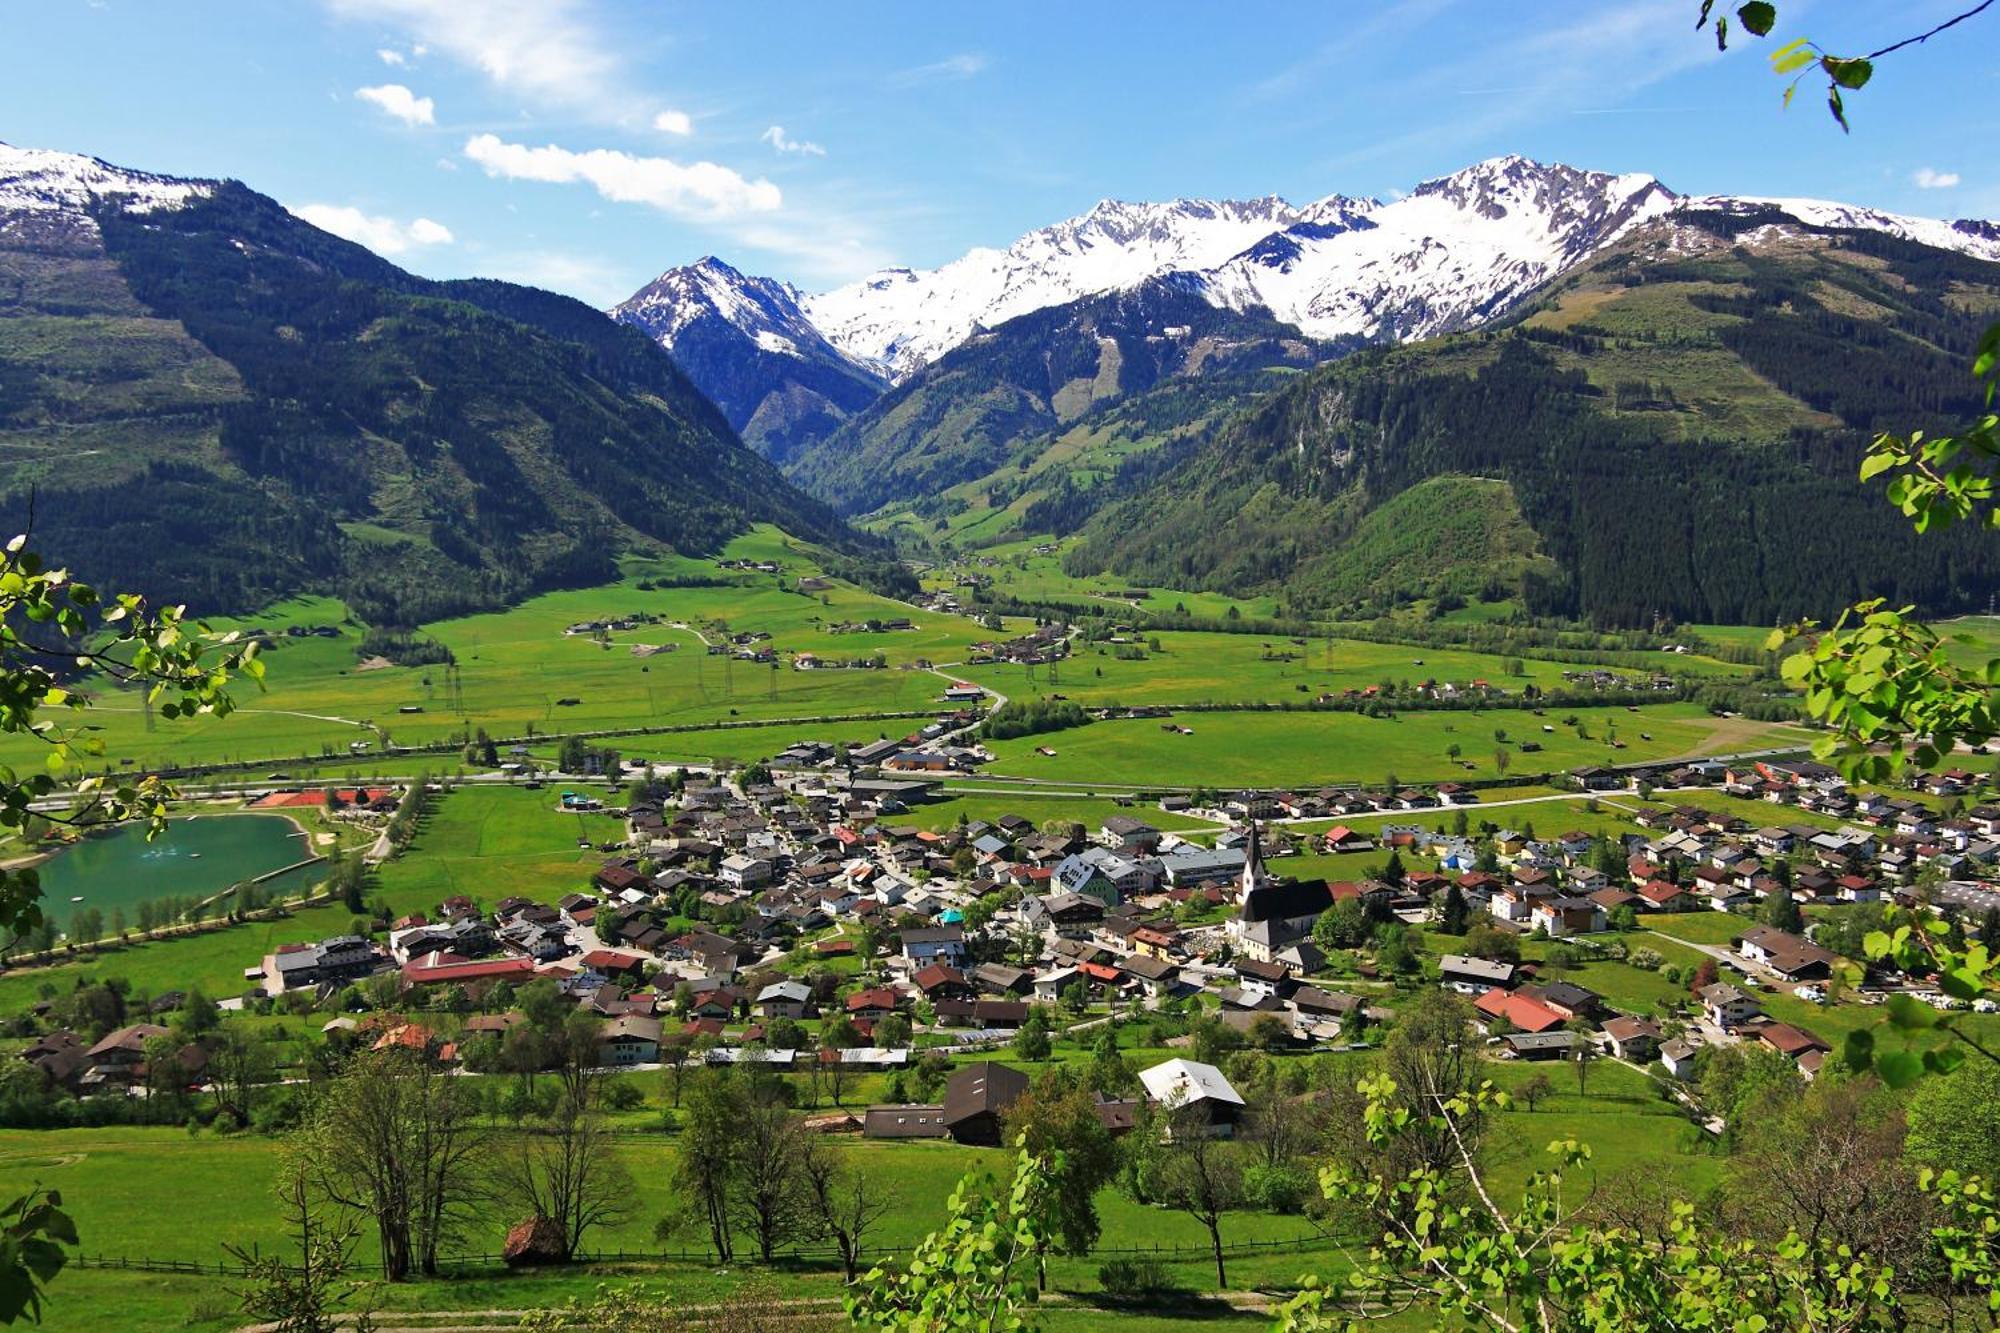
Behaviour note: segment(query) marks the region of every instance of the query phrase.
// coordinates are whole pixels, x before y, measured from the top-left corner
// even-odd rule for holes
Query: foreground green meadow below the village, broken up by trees
[[[1150,1063],[1152,1057],[1140,1063]],[[1352,1057],[1328,1057],[1350,1063]],[[1532,1071],[1496,1063],[1488,1069],[1502,1087],[1512,1087]],[[1576,1135],[1596,1149],[1596,1171],[1670,1171],[1698,1189],[1716,1163],[1686,1149],[1684,1121],[1660,1101],[1652,1083],[1636,1071],[1600,1063],[1590,1071],[1586,1091],[1574,1077],[1554,1069],[1556,1091],[1534,1113],[1510,1111],[1496,1123],[1494,1179],[1502,1189],[1538,1165],[1540,1149],[1558,1137]],[[650,1089],[658,1099],[658,1087]],[[506,1131],[502,1131],[502,1145]],[[96,1129],[96,1131],[0,1131],[0,1185],[56,1187],[76,1217],[88,1255],[154,1259],[222,1259],[224,1243],[278,1243],[278,1209],[270,1195],[280,1143],[258,1135],[218,1137],[182,1129]],[[852,1161],[884,1185],[896,1207],[882,1221],[878,1241],[904,1249],[944,1217],[946,1195],[966,1171],[1004,1175],[1008,1155],[942,1143],[850,1141]],[[636,1191],[628,1215],[592,1237],[594,1249],[656,1251],[654,1221],[672,1207],[666,1187],[672,1171],[674,1139],[662,1133],[632,1133],[620,1141],[620,1155],[632,1171]],[[230,1181],[226,1191],[214,1181]],[[160,1207],[174,1199],[174,1207]],[[1108,1189],[1098,1199],[1104,1247],[1162,1245],[1198,1247],[1200,1227],[1186,1215],[1134,1203]],[[472,1251],[490,1251],[510,1219],[492,1215],[490,1225],[466,1237]],[[1334,1251],[1312,1245],[1304,1219],[1266,1213],[1232,1213],[1224,1221],[1224,1241],[1306,1241],[1306,1249],[1230,1261],[1230,1285],[1290,1287],[1304,1273],[1330,1271]],[[670,1241],[698,1249],[700,1241]],[[366,1253],[364,1257],[372,1257]],[[1100,1257],[1054,1259],[1050,1283],[1056,1305],[1052,1327],[1090,1329],[1116,1323],[1122,1329],[1190,1327],[1198,1307],[1186,1315],[1126,1315],[1088,1307],[1096,1293]],[[1188,1253],[1168,1265],[1190,1291],[1214,1287],[1212,1267]],[[564,1275],[500,1275],[378,1287],[372,1295],[386,1309],[518,1309],[556,1303],[568,1295],[588,1295],[602,1279],[638,1281],[684,1303],[724,1301],[746,1279],[768,1285],[792,1299],[838,1295],[838,1275],[818,1267],[784,1265],[764,1279],[756,1265],[716,1269],[710,1263],[670,1263],[642,1277],[616,1269],[582,1269]],[[118,1309],[120,1329],[224,1329],[240,1323],[230,1309],[230,1283],[208,1277],[166,1277],[100,1269],[70,1269],[54,1289],[48,1329],[56,1333],[102,1329],[106,1309]],[[1198,1319],[1210,1323],[1210,1319]]]

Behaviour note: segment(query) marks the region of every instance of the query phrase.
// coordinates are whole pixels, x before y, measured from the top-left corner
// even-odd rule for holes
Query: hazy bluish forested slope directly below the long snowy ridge
[[[1174,278],[1036,310],[976,334],[788,464],[848,514],[986,476],[1030,438],[1174,378],[1310,366],[1340,348]]]

